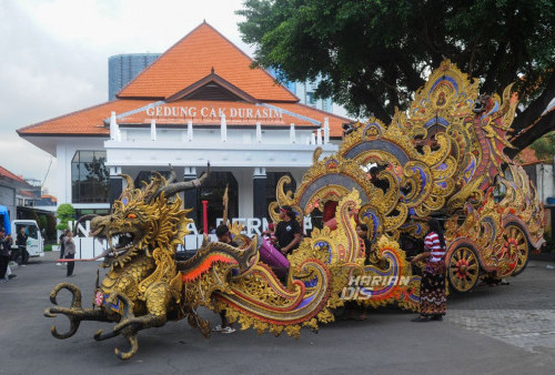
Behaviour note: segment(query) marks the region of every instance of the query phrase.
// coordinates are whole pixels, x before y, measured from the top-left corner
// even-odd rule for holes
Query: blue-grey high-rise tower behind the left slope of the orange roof
[[[115,99],[121,89],[159,57],[160,53],[128,53],[108,59],[108,99]]]

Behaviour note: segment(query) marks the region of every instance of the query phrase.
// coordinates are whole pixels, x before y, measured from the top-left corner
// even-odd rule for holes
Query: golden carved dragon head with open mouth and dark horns
[[[91,235],[108,241],[108,250],[95,259],[104,257],[103,266],[114,267],[123,266],[138,254],[172,256],[175,246],[183,244],[186,225],[192,222],[186,219],[191,210],[182,209],[178,193],[199,188],[209,173],[210,164],[200,179],[175,183],[173,171],[169,180],[154,172],[142,189],[134,188],[133,180],[123,174],[127,188],[113,203],[112,213],[91,221]]]

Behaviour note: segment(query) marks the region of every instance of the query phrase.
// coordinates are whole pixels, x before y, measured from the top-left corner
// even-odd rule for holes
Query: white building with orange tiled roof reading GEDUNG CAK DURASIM
[[[18,130],[58,159],[58,203],[78,214],[107,213],[123,189],[120,173],[148,180],[171,164],[183,180],[212,173],[185,194],[196,225],[201,201],[209,223],[222,214],[230,185],[230,216],[268,216],[275,184],[299,184],[312,154],[337,150],[350,120],[299,103],[210,24],[202,23],[124,87],[117,99]],[[71,94],[68,88],[68,95]],[[294,189],[294,186],[292,186]]]

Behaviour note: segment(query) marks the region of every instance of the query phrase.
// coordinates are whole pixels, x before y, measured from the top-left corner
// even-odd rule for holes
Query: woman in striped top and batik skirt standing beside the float
[[[420,316],[413,322],[441,321],[445,315],[445,237],[436,219],[430,219],[428,226],[424,253],[412,260],[426,262],[420,286]]]

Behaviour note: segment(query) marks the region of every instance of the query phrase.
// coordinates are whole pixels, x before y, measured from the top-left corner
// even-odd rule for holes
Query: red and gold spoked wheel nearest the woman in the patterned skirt
[[[451,254],[447,267],[451,287],[457,293],[472,291],[480,278],[480,262],[471,245],[461,244]]]

